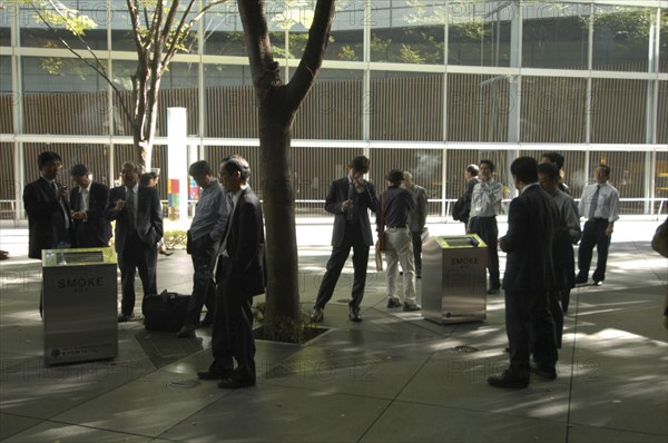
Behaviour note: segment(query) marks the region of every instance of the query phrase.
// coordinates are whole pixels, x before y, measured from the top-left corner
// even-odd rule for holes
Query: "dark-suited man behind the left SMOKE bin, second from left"
[[[86,165],[72,166],[70,176],[78,185],[70,191],[75,246],[109,246],[111,224],[105,217],[109,188],[101,183],[92,181],[90,169]]]

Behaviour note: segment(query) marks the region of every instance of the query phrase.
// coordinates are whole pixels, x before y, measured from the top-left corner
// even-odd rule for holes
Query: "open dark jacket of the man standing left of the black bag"
[[[114,229],[116,253],[125,249],[127,218],[125,209],[116,210],[116,200],[126,199],[126,187],[118,186],[109,191],[109,200],[105,216],[109,222],[116,220]],[[163,205],[155,188],[139,186],[137,190],[137,234],[146,247],[156,249],[157,243],[163,238]]]

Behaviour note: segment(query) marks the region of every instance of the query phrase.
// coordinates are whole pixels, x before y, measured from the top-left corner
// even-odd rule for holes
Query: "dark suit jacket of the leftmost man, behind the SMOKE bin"
[[[28,257],[41,259],[42,249],[52,249],[59,242],[71,238],[72,220],[66,197],[62,197],[62,203],[65,211],[56,199],[56,191],[42,177],[23,188],[29,229]],[[69,219],[69,229],[65,217]]]

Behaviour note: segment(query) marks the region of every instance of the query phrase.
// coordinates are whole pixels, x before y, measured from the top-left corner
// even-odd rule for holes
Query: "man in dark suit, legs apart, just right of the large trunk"
[[[369,158],[357,156],[348,164],[348,175],[334,180],[325,199],[325,209],[334,214],[332,233],[332,256],[323,277],[313,313],[312,322],[322,322],[323,311],[334,294],[334,287],[341,276],[341,269],[353,248],[353,289],[348,303],[348,318],[361,322],[360,304],[366,285],[366,265],[369,247],[373,244],[369,209],[377,210],[379,200],[372,183],[362,177],[369,171]]]

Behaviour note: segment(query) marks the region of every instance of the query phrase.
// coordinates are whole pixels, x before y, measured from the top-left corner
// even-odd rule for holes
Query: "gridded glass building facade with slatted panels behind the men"
[[[3,205],[35,176],[45,144],[66,167],[89,163],[108,184],[134,157],[121,106],[130,107],[137,66],[126,2],[61,3],[89,24],[82,38],[46,26],[48,11],[0,8],[0,158],[13,184],[0,191]],[[285,82],[314,6],[267,1]],[[371,158],[369,176],[380,188],[391,168],[412,170],[432,215],[448,215],[466,165],[492,159],[510,197],[512,159],[543,150],[564,154],[574,196],[605,161],[628,199],[625,211],[655,214],[668,198],[668,1],[340,0],[336,8],[323,68],[292,128],[298,215],[323,214],[328,183],[358,154]],[[206,12],[165,72],[158,137],[167,136],[169,107],[187,109],[188,142],[213,164],[232,151],[259,161],[235,2]],[[160,168],[164,142],[154,149]]]

